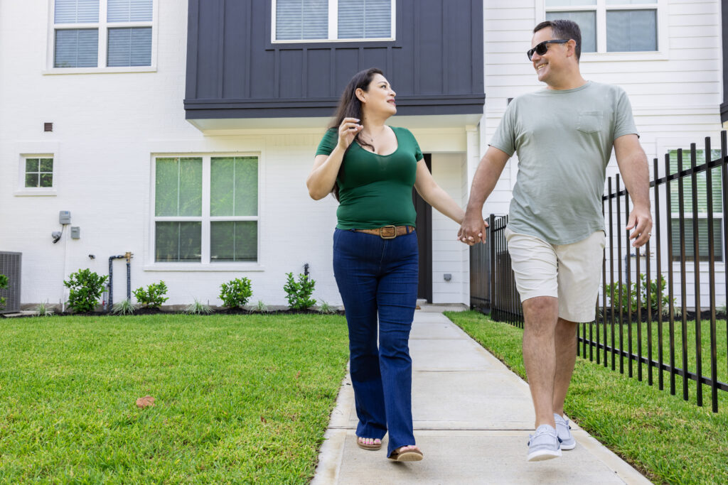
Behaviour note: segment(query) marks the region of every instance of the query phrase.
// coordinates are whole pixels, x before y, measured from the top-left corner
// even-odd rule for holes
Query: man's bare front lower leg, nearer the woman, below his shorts
[[[523,364],[534,401],[536,428],[540,425],[555,428],[553,401],[557,358],[554,332],[558,321],[558,299],[534,297],[524,300],[523,318]]]

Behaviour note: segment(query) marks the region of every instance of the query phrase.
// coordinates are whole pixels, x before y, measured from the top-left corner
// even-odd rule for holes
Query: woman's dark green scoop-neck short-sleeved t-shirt
[[[414,135],[406,128],[392,128],[397,137],[397,150],[377,155],[353,142],[344,153],[339,176],[339,229],[373,229],[384,225],[415,225],[412,203],[417,162],[422,151]],[[330,155],[339,136],[329,129],[319,144],[316,155]]]

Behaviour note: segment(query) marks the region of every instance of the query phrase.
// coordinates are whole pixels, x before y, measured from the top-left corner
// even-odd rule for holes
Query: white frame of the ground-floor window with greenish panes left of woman
[[[256,216],[210,216],[210,164],[213,158],[254,156],[258,159],[258,215]],[[167,158],[200,158],[202,159],[202,216],[157,216],[154,209],[157,201],[157,159]],[[262,271],[261,265],[261,152],[244,153],[154,153],[151,156],[151,203],[149,204],[149,244],[148,257],[144,270],[148,271]],[[258,223],[258,258],[256,262],[211,262],[210,261],[210,223],[216,221],[247,221]],[[158,262],[155,260],[158,222],[200,222],[202,223],[202,257],[200,262]]]

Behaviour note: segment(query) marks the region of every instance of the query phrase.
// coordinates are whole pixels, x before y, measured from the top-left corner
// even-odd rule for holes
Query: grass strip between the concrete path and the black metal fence
[[[526,378],[523,330],[474,311],[446,315]],[[720,406],[720,412],[714,414],[709,406],[695,406],[656,385],[578,358],[565,411],[654,482],[719,484],[728,483],[725,396]]]

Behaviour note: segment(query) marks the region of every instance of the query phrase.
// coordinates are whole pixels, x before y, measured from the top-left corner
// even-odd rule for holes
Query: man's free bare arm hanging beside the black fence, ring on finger
[[[614,154],[625,187],[632,199],[632,212],[627,230],[633,229],[632,245],[643,246],[652,236],[652,214],[649,212],[649,166],[637,135],[624,135],[614,140]]]

